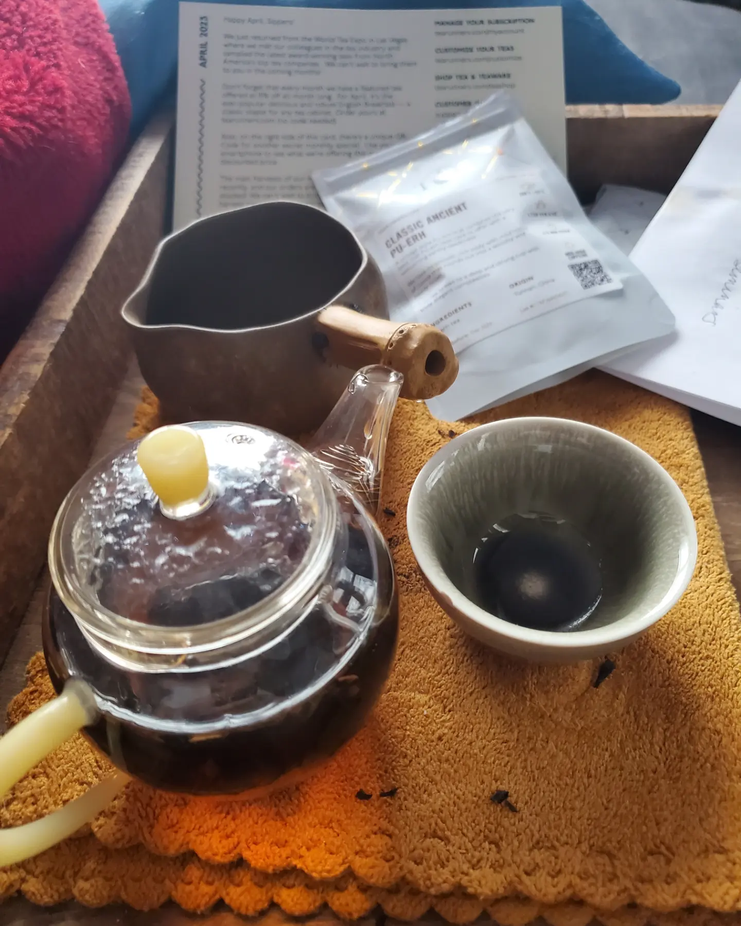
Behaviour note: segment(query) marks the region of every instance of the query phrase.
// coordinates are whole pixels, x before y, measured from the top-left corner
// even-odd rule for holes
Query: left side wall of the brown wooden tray
[[[129,361],[119,309],[162,236],[172,124],[155,119],[133,145],[0,368],[0,664]]]

